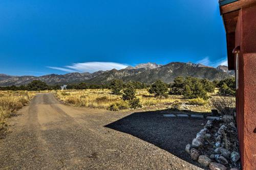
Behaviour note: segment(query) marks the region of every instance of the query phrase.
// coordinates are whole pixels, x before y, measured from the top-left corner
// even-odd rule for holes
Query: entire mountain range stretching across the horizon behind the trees
[[[33,80],[40,80],[47,84],[70,84],[87,82],[91,84],[109,83],[113,79],[123,81],[139,81],[143,83],[153,83],[158,79],[166,83],[173,82],[177,76],[191,76],[196,78],[206,78],[208,80],[222,80],[232,77],[233,71],[229,71],[227,66],[220,65],[217,68],[194,64],[191,62],[171,62],[166,65],[156,63],[145,63],[136,66],[128,66],[124,69],[112,69],[106,71],[72,72],[65,75],[45,75],[35,76],[9,76],[0,74],[0,86],[25,85]]]

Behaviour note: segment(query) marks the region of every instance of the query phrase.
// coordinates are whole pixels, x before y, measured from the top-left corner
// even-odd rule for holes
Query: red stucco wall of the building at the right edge
[[[256,170],[256,6],[240,10],[236,46],[240,45],[237,125],[243,169]]]

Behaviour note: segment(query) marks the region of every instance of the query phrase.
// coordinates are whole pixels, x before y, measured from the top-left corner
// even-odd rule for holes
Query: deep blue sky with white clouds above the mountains
[[[0,1],[0,73],[226,63],[218,0]]]

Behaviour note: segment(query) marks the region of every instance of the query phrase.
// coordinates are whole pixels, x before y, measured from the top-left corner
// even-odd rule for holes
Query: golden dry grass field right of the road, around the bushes
[[[110,105],[115,103],[125,105],[125,102],[121,99],[121,95],[111,94],[111,90],[109,89],[58,90],[56,97],[62,102],[81,107],[108,109]],[[185,100],[181,95],[168,95],[168,98],[155,98],[153,94],[148,93],[147,89],[141,89],[136,91],[136,97],[140,99],[142,108],[165,109],[173,103],[180,103],[191,111],[210,111],[207,101]]]

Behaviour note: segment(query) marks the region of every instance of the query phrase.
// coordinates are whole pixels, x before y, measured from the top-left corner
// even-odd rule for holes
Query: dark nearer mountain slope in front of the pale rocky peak
[[[113,79],[122,79],[123,81],[140,81],[144,83],[153,83],[158,79],[166,83],[173,82],[177,76],[191,76],[197,78],[206,78],[208,80],[221,80],[230,77],[224,71],[217,70],[214,67],[203,66],[202,64],[191,64],[182,62],[172,62],[154,69],[121,69],[110,70],[103,74],[86,80],[89,83],[108,83]]]

